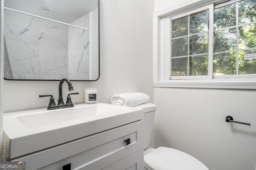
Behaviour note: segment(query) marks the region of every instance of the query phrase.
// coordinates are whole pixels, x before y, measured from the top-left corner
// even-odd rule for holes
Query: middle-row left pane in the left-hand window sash
[[[172,40],[172,57],[188,55],[188,37]]]

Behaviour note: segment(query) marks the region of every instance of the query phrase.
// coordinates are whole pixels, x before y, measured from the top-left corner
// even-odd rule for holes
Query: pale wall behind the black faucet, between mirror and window
[[[100,78],[72,82],[73,92],[80,93],[72,96],[75,104],[84,102],[84,88],[98,88],[98,102],[110,103],[112,95],[122,92],[143,92],[153,102],[153,12],[154,0],[100,0]],[[4,80],[4,112],[46,107],[49,99],[39,94],[52,94],[56,102],[58,84]],[[62,89],[66,98],[66,83]]]

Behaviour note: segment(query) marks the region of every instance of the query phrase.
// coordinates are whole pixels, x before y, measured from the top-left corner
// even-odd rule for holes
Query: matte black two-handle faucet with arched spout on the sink
[[[70,95],[71,94],[79,94],[78,92],[76,93],[70,93],[68,94],[68,97],[67,97],[67,102],[66,104],[64,104],[63,102],[63,97],[62,97],[62,85],[64,82],[67,82],[68,83],[68,91],[72,91],[74,90],[73,89],[73,86],[70,82],[70,80],[68,80],[67,78],[63,78],[62,80],[60,80],[60,84],[59,84],[59,100],[58,100],[58,104],[56,105],[55,102],[54,102],[54,98],[52,95],[39,95],[39,97],[46,97],[46,96],[51,96],[50,98],[50,102],[48,104],[48,107],[47,109],[48,110],[51,110],[51,109],[60,109],[60,108],[66,108],[66,107],[74,107],[74,104],[72,103],[72,100],[70,98]]]

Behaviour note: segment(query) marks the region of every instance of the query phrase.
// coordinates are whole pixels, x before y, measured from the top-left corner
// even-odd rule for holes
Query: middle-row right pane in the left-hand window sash
[[[208,53],[208,33],[191,36],[189,48],[190,55]]]

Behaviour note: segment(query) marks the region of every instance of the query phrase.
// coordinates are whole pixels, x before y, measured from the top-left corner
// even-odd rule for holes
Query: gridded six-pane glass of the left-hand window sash
[[[208,75],[209,10],[171,23],[171,76]]]

